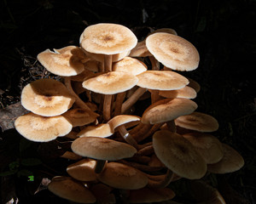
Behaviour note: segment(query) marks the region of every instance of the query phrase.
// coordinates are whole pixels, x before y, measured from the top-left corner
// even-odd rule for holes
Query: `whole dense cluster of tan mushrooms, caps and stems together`
[[[21,104],[31,112],[15,128],[35,142],[71,142],[67,175],[48,187],[55,195],[115,203],[119,190],[131,203],[166,201],[175,196],[167,186],[179,178],[243,166],[241,155],[212,135],[218,121],[195,111],[201,87],[180,72],[195,70],[200,57],[176,31],[159,29],[137,42],[127,27],[100,23],[84,29],[79,46],[53,50],[38,61],[63,81],[26,85]]]

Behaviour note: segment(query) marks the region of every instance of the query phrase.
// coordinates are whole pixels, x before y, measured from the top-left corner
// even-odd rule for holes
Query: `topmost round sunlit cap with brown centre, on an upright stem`
[[[100,23],[88,26],[82,33],[80,45],[95,54],[119,54],[129,51],[137,44],[137,37],[127,27]]]

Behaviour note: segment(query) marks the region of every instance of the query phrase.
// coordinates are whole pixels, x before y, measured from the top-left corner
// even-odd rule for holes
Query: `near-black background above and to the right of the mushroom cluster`
[[[195,99],[198,111],[218,119],[220,127],[213,134],[245,159],[240,171],[217,176],[215,184],[227,203],[256,203],[255,0],[1,0],[0,9],[1,109],[18,102],[21,88],[37,78],[36,69],[42,68],[36,61],[38,53],[79,45],[86,26],[118,23],[134,31],[138,40],[146,37],[149,28],[167,27],[192,42],[200,53],[200,65],[182,74],[201,84]],[[0,142],[6,137],[3,134]],[[35,196],[26,190],[23,194],[19,184],[15,188],[22,201],[34,201]]]

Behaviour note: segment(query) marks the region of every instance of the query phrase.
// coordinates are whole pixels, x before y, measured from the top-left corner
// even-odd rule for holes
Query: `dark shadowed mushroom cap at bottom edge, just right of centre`
[[[130,190],[130,203],[151,203],[171,200],[175,196],[169,188],[152,189],[144,187],[139,190]]]

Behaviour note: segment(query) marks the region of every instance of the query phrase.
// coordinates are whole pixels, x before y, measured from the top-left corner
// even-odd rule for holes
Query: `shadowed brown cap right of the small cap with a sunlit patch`
[[[136,190],[148,184],[148,177],[135,167],[118,162],[109,162],[98,179],[117,189]]]

